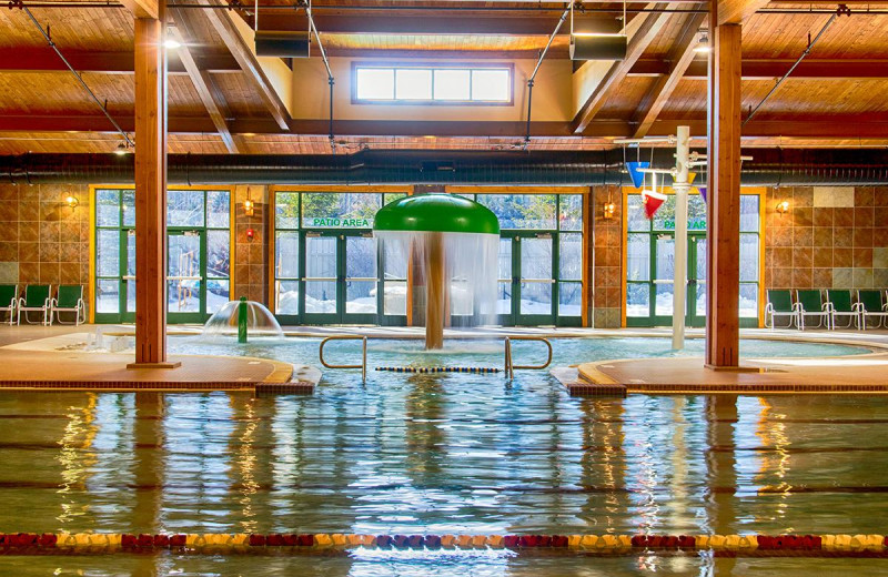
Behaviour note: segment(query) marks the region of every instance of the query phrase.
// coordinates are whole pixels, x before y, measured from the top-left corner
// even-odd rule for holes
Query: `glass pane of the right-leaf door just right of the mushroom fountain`
[[[548,324],[554,322],[552,307],[553,254],[552,236],[525,236],[521,240],[521,324]],[[534,318],[528,318],[534,317]]]

